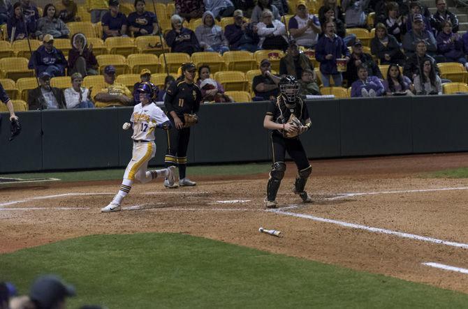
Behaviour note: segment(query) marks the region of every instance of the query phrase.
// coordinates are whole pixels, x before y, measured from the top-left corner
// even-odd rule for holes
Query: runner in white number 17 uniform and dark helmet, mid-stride
[[[148,161],[156,153],[156,144],[154,144],[154,128],[168,130],[170,121],[166,114],[154,103],[154,94],[156,86],[149,82],[140,84],[140,104],[135,105],[133,114],[131,114],[130,123],[124,123],[122,128],[128,130],[133,128],[133,154],[129,165],[127,165],[124,174],[124,180],[120,186],[119,193],[115,195],[112,202],[101,209],[102,212],[119,211],[122,199],[130,192],[133,181],[138,180],[141,183],[152,181],[156,177],[166,177],[174,183],[175,166],[165,169],[156,169],[147,171]]]

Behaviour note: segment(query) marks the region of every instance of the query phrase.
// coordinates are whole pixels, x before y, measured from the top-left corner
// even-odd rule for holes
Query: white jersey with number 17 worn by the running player
[[[154,141],[156,125],[165,123],[169,119],[156,104],[150,103],[142,106],[140,103],[133,107],[130,121],[133,123],[133,135],[131,136],[133,140]]]

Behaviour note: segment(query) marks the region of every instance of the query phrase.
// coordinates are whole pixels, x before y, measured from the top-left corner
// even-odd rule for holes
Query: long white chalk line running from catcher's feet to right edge
[[[353,229],[363,229],[367,232],[372,232],[372,233],[381,233],[381,234],[388,234],[388,235],[394,235],[406,239],[414,239],[418,241],[426,241],[429,243],[437,243],[445,246],[451,246],[451,247],[458,247],[458,248],[464,248],[468,249],[468,243],[457,243],[455,241],[444,241],[443,239],[435,239],[432,237],[427,237],[427,236],[420,236],[416,234],[409,234],[409,233],[404,233],[404,232],[397,232],[393,231],[391,229],[381,229],[379,227],[369,227],[367,225],[358,225],[356,223],[348,223],[345,221],[339,221],[339,220],[332,220],[332,219],[327,219],[327,218],[321,218],[321,217],[316,217],[312,215],[307,215],[304,213],[291,213],[289,211],[282,211],[281,209],[270,209],[267,210],[272,213],[278,213],[281,215],[285,216],[293,216],[297,218],[304,218],[304,219],[309,219],[309,220],[314,220],[318,222],[323,222],[323,223],[331,223],[334,225],[340,225],[342,227],[351,227]]]

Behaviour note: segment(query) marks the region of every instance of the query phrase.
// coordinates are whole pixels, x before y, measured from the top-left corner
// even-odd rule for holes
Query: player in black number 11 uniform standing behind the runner
[[[200,109],[201,91],[194,83],[196,67],[193,63],[182,65],[182,76],[171,84],[166,92],[164,105],[172,123],[168,130],[168,150],[164,161],[166,167],[179,167],[179,186],[195,186],[186,176],[187,148],[190,127],[185,126],[184,114],[196,114]],[[177,188],[177,183],[164,181],[166,188]]]

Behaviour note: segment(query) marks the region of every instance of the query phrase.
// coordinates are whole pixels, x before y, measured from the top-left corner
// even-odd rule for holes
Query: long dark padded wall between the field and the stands
[[[191,163],[271,159],[263,128],[268,103],[202,105],[187,153]],[[310,158],[468,151],[468,96],[351,98],[307,101],[312,130],[302,135]],[[0,131],[0,173],[124,167],[132,108],[20,112],[22,133],[13,142],[8,114]],[[166,133],[156,130],[162,165]]]

